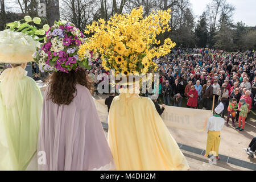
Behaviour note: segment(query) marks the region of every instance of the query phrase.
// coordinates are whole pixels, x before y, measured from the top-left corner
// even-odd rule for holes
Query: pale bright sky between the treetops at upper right
[[[197,18],[203,13],[210,0],[190,0],[194,15]],[[247,26],[256,26],[256,0],[227,0],[236,7],[234,22],[243,22]],[[196,18],[196,20],[197,20]]]

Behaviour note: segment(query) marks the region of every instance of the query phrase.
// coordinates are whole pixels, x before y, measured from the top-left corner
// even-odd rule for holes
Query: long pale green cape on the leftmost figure
[[[14,80],[11,89],[11,84],[0,83],[0,170],[26,170],[38,143],[42,94],[32,78],[22,75]],[[14,98],[12,106],[4,104],[3,93],[8,92],[3,89]]]

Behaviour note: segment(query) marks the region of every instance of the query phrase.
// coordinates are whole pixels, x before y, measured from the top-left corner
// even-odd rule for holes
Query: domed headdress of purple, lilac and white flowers
[[[67,21],[55,22],[49,28],[42,46],[34,53],[34,60],[44,71],[68,73],[72,69],[90,68],[97,58],[92,51],[86,51],[83,57],[77,55],[81,43],[86,42],[85,35],[75,25]]]

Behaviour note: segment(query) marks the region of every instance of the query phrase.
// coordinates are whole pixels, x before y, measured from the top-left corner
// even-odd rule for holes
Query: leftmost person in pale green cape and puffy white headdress
[[[0,62],[12,67],[0,75],[0,170],[26,170],[36,155],[43,104],[38,85],[24,70],[36,42],[9,30],[0,32],[0,38]]]

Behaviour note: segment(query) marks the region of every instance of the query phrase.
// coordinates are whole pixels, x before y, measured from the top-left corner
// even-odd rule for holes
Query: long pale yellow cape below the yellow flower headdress
[[[118,170],[188,170],[150,98],[121,89],[109,111],[108,141]]]

